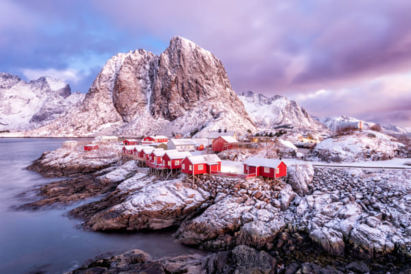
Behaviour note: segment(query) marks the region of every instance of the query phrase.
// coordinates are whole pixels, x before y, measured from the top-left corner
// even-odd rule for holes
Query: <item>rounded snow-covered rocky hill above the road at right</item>
[[[356,162],[407,157],[407,153],[405,145],[395,138],[363,130],[323,140],[314,148],[312,157],[326,162]]]

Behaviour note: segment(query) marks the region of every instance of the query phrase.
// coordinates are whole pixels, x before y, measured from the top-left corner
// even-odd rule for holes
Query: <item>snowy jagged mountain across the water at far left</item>
[[[46,125],[77,105],[84,95],[61,79],[40,77],[30,82],[0,73],[0,131],[27,130]]]

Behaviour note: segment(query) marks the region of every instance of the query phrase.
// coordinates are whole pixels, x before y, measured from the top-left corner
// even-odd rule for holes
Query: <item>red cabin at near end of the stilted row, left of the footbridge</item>
[[[182,161],[183,173],[198,175],[210,171],[221,171],[221,160],[215,154],[188,156]]]

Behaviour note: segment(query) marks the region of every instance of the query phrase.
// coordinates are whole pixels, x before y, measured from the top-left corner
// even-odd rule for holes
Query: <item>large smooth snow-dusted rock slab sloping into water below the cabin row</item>
[[[91,216],[86,227],[92,230],[163,229],[178,225],[210,199],[210,193],[187,187],[181,178],[156,182],[155,177],[140,173],[135,177],[117,187],[119,195],[127,193],[127,199]]]

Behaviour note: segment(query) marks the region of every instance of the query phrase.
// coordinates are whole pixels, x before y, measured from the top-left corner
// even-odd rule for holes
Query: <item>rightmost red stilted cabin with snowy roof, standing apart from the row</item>
[[[244,174],[256,173],[256,176],[272,179],[287,175],[287,165],[279,159],[249,157],[242,164],[244,164]]]

